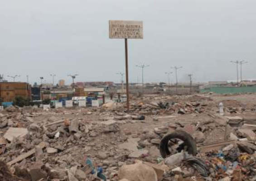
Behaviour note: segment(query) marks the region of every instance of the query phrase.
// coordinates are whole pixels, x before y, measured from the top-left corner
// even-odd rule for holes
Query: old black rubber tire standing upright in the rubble
[[[159,144],[159,150],[160,150],[160,154],[163,158],[170,156],[171,153],[168,148],[168,142],[170,139],[174,139],[174,138],[179,138],[182,141],[184,141],[184,145],[186,145],[188,147],[188,154],[196,155],[197,145],[196,145],[195,139],[185,131],[176,130],[173,133],[169,133],[169,134],[165,135],[161,139],[161,142]]]

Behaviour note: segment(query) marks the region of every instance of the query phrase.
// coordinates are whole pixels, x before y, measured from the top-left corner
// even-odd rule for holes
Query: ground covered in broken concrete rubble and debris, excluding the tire
[[[254,105],[222,100],[222,116],[224,98],[134,97],[129,113],[114,102],[47,112],[7,108],[0,112],[0,180],[6,174],[14,181],[254,181]],[[196,155],[176,138],[169,157],[161,156],[162,138],[176,130],[193,137]]]

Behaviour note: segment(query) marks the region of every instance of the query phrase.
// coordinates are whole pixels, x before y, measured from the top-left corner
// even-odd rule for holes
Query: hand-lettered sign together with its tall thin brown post
[[[109,20],[109,38],[125,39],[126,52],[126,105],[129,104],[129,78],[128,78],[128,47],[127,39],[143,39],[143,22],[142,21],[121,21]]]

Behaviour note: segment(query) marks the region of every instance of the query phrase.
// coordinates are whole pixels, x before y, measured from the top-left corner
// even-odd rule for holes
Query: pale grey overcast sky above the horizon
[[[108,38],[108,20],[143,20],[144,39],[128,40],[130,81],[256,78],[256,0],[0,0],[0,73],[17,81],[51,81],[78,73],[77,81],[120,81],[124,40]],[[7,78],[5,76],[5,78]],[[172,76],[174,81],[174,76]]]

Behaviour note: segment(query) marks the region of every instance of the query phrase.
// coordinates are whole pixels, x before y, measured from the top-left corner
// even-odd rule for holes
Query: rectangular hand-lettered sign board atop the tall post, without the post
[[[109,38],[143,39],[143,21],[109,20]]]

